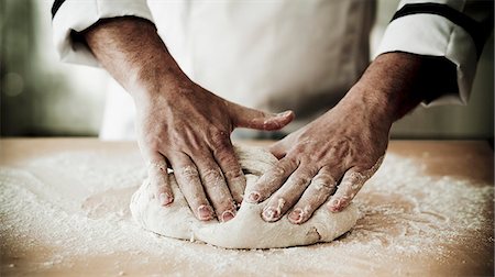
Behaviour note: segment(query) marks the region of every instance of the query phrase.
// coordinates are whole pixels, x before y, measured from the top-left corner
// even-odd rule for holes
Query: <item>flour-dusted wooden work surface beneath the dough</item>
[[[359,197],[364,215],[353,231],[338,241],[275,251],[227,251],[158,237],[134,226],[127,207],[145,176],[135,143],[11,138],[0,141],[0,155],[2,276],[493,275],[494,156],[483,141],[392,141],[387,154],[391,159],[383,165],[392,168],[384,168],[389,180],[400,180],[400,168],[406,168],[404,176],[420,168],[414,169],[420,177],[407,177],[404,191],[381,190],[375,184],[370,184],[369,190],[363,188]],[[402,167],[393,170],[398,164]],[[388,180],[387,176],[377,178]],[[432,209],[435,220],[426,217],[432,212],[417,213],[421,199],[435,191],[430,193],[428,186],[415,188],[408,181],[415,178],[431,181],[432,186],[452,182],[459,193],[447,186],[446,195],[452,195],[448,202],[452,207],[455,201],[465,206],[469,211],[459,208],[464,224],[446,215],[451,214],[449,211],[442,213],[440,207]],[[404,197],[407,193],[411,201]],[[465,204],[463,201],[471,195],[473,200]],[[407,211],[415,202],[417,206]],[[366,210],[366,206],[377,208]],[[399,206],[402,212],[397,213]],[[439,218],[451,226],[450,231],[431,232],[439,226]],[[399,226],[404,223],[410,228]],[[118,235],[111,230],[118,230]],[[452,235],[440,235],[448,231]],[[424,244],[424,239],[431,242]],[[399,251],[398,246],[404,247]]]

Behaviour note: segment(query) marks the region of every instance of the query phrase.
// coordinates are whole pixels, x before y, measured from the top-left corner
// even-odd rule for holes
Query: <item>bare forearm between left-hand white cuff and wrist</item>
[[[101,65],[133,96],[161,91],[167,81],[185,78],[147,20],[106,19],[82,35]]]

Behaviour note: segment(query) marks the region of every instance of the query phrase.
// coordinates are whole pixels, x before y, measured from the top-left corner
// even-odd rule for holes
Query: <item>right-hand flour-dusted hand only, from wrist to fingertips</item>
[[[345,99],[271,147],[278,164],[263,175],[248,201],[268,198],[262,218],[307,221],[329,197],[328,209],[344,209],[376,171],[388,143],[391,120],[370,117],[364,103]],[[373,114],[376,115],[376,114]]]

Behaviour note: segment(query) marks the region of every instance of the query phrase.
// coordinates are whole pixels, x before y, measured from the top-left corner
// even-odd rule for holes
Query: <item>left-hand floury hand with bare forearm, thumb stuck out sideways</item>
[[[294,113],[271,114],[217,97],[178,67],[154,25],[136,18],[99,21],[82,34],[98,60],[131,93],[152,197],[173,204],[167,168],[199,220],[235,215],[245,177],[230,134],[237,126],[277,130]],[[164,208],[166,209],[166,208]],[[165,220],[165,219],[164,219]]]

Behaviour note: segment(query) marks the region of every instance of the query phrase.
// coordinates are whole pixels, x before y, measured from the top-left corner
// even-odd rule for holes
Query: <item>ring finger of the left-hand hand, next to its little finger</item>
[[[175,179],[196,218],[201,221],[213,219],[213,209],[208,202],[198,169],[193,160],[184,153],[173,154],[169,159]]]

